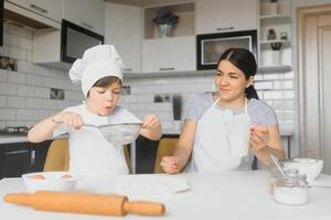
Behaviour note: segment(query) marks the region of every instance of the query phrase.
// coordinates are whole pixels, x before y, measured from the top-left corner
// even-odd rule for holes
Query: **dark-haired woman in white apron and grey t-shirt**
[[[173,155],[161,160],[166,173],[182,170],[191,154],[188,172],[250,169],[253,155],[263,163],[269,161],[270,153],[284,157],[275,112],[258,100],[253,86],[256,70],[249,51],[224,52],[217,63],[217,92],[200,95],[193,101]],[[231,147],[243,146],[231,145],[228,136],[235,131],[227,130],[228,123],[250,125],[248,155],[232,155]]]

